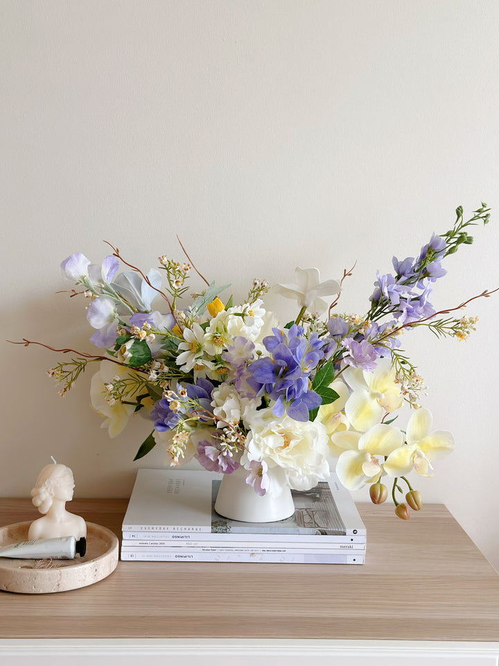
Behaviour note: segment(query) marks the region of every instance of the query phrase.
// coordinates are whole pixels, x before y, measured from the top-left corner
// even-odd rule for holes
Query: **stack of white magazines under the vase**
[[[123,518],[122,560],[363,564],[366,529],[333,475],[292,491],[295,513],[278,522],[238,522],[213,508],[220,475],[139,470]]]

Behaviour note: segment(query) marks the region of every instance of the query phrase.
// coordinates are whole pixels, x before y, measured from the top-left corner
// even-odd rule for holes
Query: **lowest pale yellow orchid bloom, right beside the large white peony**
[[[348,430],[333,434],[331,440],[342,450],[336,463],[338,479],[349,490],[359,490],[380,477],[383,464],[378,456],[389,456],[401,447],[403,434],[398,428],[378,423],[364,434]]]

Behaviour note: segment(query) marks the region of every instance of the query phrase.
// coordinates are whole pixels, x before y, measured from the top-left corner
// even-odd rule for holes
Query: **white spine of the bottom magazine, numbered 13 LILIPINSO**
[[[122,552],[123,561],[158,562],[266,562],[289,564],[364,564],[364,555],[347,553],[164,553],[138,551]]]

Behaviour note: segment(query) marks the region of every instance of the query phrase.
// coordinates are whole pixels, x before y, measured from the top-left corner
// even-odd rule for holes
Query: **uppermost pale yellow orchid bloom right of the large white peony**
[[[378,361],[374,372],[362,368],[346,368],[343,378],[353,389],[345,404],[345,414],[353,429],[366,432],[379,423],[385,412],[399,409],[403,396],[396,373],[389,359]]]

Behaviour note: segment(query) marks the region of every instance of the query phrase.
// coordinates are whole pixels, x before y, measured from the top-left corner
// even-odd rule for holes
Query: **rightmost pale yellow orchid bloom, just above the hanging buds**
[[[407,444],[392,451],[383,468],[390,477],[400,477],[414,470],[424,477],[432,476],[430,461],[454,450],[453,435],[447,430],[430,433],[432,414],[429,409],[414,411],[408,422]]]

